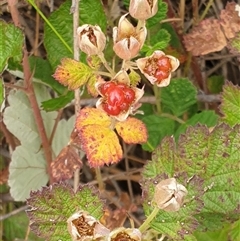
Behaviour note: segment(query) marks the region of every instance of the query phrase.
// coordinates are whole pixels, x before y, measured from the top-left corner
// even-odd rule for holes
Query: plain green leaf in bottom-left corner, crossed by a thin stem
[[[3,230],[5,240],[24,240],[27,227],[29,224],[29,219],[25,212],[18,213],[11,216],[3,221]],[[38,238],[32,232],[28,235],[28,241],[40,241],[42,239]]]

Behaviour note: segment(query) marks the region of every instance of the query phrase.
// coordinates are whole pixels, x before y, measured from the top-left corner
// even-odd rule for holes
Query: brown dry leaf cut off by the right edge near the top
[[[234,2],[228,2],[220,14],[221,20],[219,22],[228,39],[234,38],[236,33],[240,32],[240,16],[239,12],[236,11],[236,5]]]

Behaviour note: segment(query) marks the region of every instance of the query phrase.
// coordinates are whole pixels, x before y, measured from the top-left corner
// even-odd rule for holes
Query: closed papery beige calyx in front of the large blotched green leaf
[[[160,209],[176,212],[182,206],[187,193],[187,189],[177,183],[175,178],[165,179],[156,185],[153,202]]]

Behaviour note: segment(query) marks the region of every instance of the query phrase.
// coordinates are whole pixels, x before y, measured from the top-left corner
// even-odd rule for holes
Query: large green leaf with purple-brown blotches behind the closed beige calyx
[[[165,138],[143,171],[144,210],[152,211],[154,183],[175,177],[188,195],[175,213],[160,211],[151,227],[174,240],[192,239],[194,230],[219,230],[239,218],[240,125],[189,127],[178,145]],[[186,235],[189,235],[188,237]]]

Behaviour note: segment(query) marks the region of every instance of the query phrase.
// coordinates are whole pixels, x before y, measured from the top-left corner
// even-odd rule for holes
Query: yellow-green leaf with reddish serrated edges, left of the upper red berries
[[[62,85],[68,86],[70,90],[75,90],[86,84],[93,76],[91,68],[86,64],[74,59],[64,58],[53,74],[53,77]]]

